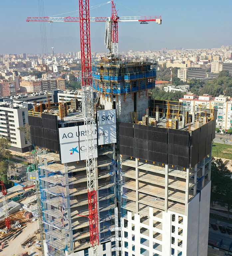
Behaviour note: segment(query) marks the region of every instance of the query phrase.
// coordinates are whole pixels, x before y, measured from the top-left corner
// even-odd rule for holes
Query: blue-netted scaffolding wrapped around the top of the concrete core
[[[102,58],[92,66],[95,91],[121,95],[151,89],[155,85],[156,65],[153,61],[125,61]]]

